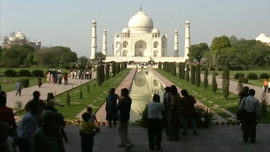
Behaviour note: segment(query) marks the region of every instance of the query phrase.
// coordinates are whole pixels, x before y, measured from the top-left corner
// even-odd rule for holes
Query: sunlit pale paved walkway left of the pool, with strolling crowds
[[[45,78],[42,78],[45,79]],[[24,88],[22,90],[21,96],[15,95],[16,91],[10,91],[7,92],[7,107],[14,108],[16,106],[16,101],[21,101],[23,104],[23,108],[25,104],[33,99],[33,92],[34,91],[39,91],[41,92],[40,99],[42,100],[47,100],[47,94],[49,92],[52,92],[54,95],[62,94],[65,91],[71,90],[72,88],[76,88],[80,86],[81,84],[85,84],[89,81],[92,81],[93,79],[96,79],[96,72],[92,73],[92,79],[87,80],[87,79],[71,79],[70,77],[68,78],[68,84],[64,85],[63,83],[58,85],[58,84],[49,84],[49,83],[44,83],[41,85],[40,88],[38,88],[38,85]],[[16,86],[14,86],[16,87]],[[2,87],[2,90],[4,91],[5,88]]]

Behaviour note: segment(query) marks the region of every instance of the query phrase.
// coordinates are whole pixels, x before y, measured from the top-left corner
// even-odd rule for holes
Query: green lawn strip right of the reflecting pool
[[[226,112],[221,109],[226,109],[233,114],[237,114],[238,105],[239,105],[239,97],[237,94],[229,93],[229,97],[227,100],[224,100],[222,89],[218,88],[216,93],[213,94],[211,85],[208,85],[208,88],[205,90],[202,85],[200,87],[196,87],[196,85],[191,85],[190,81],[186,81],[185,79],[179,79],[178,76],[173,76],[171,73],[167,73],[161,69],[155,69],[158,73],[162,74],[164,77],[172,81],[179,88],[186,89],[189,94],[193,95],[197,100],[202,102],[205,106],[211,108],[214,112],[219,114],[223,118],[228,118]],[[220,108],[220,109],[216,109]],[[267,113],[266,118],[261,118],[259,123],[270,123],[270,112]]]

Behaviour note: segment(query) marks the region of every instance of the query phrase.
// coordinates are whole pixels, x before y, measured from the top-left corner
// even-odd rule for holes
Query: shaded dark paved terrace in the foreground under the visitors
[[[100,126],[101,131],[94,136],[93,151],[95,152],[124,152],[126,149],[118,147],[120,138],[118,128]],[[80,152],[79,126],[68,125],[65,127],[68,143],[64,143],[67,152]],[[180,133],[182,128],[180,129]],[[269,152],[270,151],[270,126],[258,125],[256,143],[243,142],[242,131],[239,126],[213,126],[197,129],[198,135],[193,136],[188,129],[188,135],[180,134],[179,141],[167,141],[165,134],[162,136],[161,152]],[[135,145],[131,152],[150,152],[148,146],[147,128],[128,127],[128,137]]]

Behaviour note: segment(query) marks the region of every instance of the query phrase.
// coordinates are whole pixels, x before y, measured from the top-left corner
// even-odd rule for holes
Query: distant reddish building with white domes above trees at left
[[[3,48],[11,48],[14,44],[28,44],[30,46],[33,46],[35,49],[39,50],[41,49],[41,41],[38,41],[38,45],[36,45],[35,42],[30,42],[30,39],[27,39],[24,34],[22,34],[21,30],[19,30],[16,34],[13,36],[7,38],[4,37],[4,42],[2,44]]]

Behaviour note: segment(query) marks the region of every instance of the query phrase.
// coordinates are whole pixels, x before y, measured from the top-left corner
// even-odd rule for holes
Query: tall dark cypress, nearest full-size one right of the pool
[[[223,67],[223,74],[222,74],[222,92],[224,100],[228,99],[229,96],[229,68],[227,66]]]

